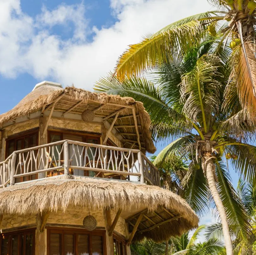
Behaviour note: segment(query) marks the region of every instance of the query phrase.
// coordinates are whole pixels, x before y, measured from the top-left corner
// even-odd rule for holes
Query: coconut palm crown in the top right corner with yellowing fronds
[[[137,44],[130,45],[120,56],[115,73],[119,81],[139,76],[143,71],[168,62],[177,50],[185,54],[205,36],[219,39],[218,46],[231,48],[232,66],[225,98],[232,100],[234,87],[243,109],[256,116],[256,3],[253,0],[208,0],[215,11],[193,15],[176,21]],[[227,44],[231,40],[230,44]]]

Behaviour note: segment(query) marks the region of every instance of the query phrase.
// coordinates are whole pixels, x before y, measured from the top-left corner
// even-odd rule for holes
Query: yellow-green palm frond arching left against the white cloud
[[[125,75],[127,78],[138,76],[147,68],[167,61],[166,56],[172,50],[184,51],[202,32],[203,26],[198,21],[190,21],[130,45],[118,60],[115,70],[117,78],[122,81]]]

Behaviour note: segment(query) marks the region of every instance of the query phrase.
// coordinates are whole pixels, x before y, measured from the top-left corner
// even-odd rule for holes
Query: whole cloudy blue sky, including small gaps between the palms
[[[43,80],[92,90],[128,44],[210,8],[207,0],[1,0],[0,114]],[[209,213],[201,222],[212,221]]]

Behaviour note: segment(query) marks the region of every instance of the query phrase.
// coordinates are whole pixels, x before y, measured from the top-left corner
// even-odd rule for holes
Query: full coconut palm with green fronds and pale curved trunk
[[[244,179],[255,180],[256,147],[248,140],[255,137],[256,123],[242,109],[236,90],[232,100],[225,98],[232,70],[224,64],[227,51],[216,47],[216,41],[210,39],[187,47],[186,52],[180,49],[166,56],[167,62],[153,73],[157,86],[135,76],[119,82],[110,74],[97,82],[95,90],[144,103],[155,139],[174,139],[154,163],[161,166],[175,157],[187,159],[189,170],[183,178],[186,200],[202,214],[210,190],[221,218],[227,254],[233,254],[229,224],[240,226],[244,240],[250,225],[224,161],[226,157]]]

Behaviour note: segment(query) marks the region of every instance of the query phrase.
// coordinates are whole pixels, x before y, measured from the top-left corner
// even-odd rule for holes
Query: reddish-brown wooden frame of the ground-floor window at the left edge
[[[16,230],[16,231],[10,231],[10,232],[4,232],[0,234],[0,254],[2,252],[2,239],[3,236],[6,236],[9,238],[9,245],[8,245],[8,254],[11,255],[11,245],[12,245],[12,241],[11,241],[11,236],[12,235],[16,235],[16,234],[20,234],[20,235],[24,235],[24,239],[26,238],[27,234],[32,234],[33,235],[33,255],[35,255],[35,231],[36,228],[26,228],[26,229],[21,229],[21,230]],[[26,240],[26,239],[25,239]],[[26,241],[24,240],[24,244],[26,243]],[[24,250],[21,251],[21,238],[19,238],[19,248],[18,248],[18,255],[22,255],[25,254],[25,247],[26,245],[24,245]]]

